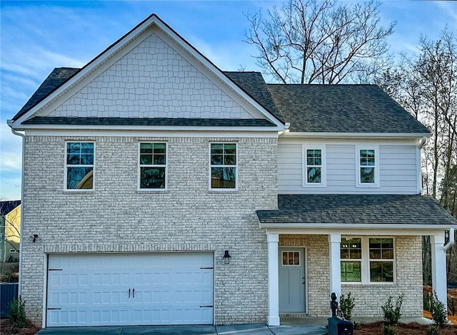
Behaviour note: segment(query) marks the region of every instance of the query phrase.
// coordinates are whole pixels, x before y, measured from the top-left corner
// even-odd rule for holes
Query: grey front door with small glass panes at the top
[[[304,313],[305,249],[278,248],[279,250],[279,312]]]

